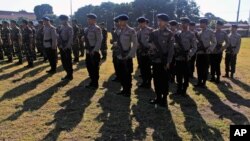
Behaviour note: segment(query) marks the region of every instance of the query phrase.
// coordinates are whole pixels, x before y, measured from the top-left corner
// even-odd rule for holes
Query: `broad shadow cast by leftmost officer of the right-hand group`
[[[112,82],[110,76],[107,82],[104,82],[104,96],[98,101],[103,112],[96,120],[103,123],[99,130],[101,137],[96,141],[131,141],[132,140],[132,121],[130,115],[130,98],[118,96],[114,92],[119,91],[120,84]]]

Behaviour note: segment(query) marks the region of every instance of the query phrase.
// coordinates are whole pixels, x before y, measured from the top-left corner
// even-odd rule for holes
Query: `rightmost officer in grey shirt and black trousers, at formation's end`
[[[226,49],[225,66],[226,74],[224,77],[234,78],[237,54],[240,51],[241,35],[237,33],[238,25],[232,25],[231,33],[228,35],[229,46]]]

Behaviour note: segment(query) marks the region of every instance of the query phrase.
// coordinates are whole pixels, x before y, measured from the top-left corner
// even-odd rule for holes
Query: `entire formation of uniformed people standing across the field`
[[[99,87],[100,50],[102,59],[107,57],[107,31],[103,24],[99,27],[97,16],[93,13],[87,15],[88,27],[81,31],[77,21],[69,24],[69,18],[59,16],[61,26],[54,27],[48,17],[39,22],[35,43],[34,27],[26,20],[22,22],[22,29],[18,28],[15,21],[11,21],[11,31],[7,22],[3,22],[1,30],[1,54],[3,52],[12,61],[13,49],[18,52],[19,63],[22,63],[22,52],[26,55],[28,67],[33,67],[34,46],[38,47],[45,60],[48,59],[51,69],[49,74],[55,74],[57,69],[57,47],[60,51],[61,62],[66,76],[62,80],[73,79],[72,53],[74,62],[79,62],[79,51],[83,43],[86,50],[86,67],[91,82],[87,88]],[[113,64],[116,78],[122,85],[118,95],[130,97],[132,88],[133,58],[137,55],[142,84],[141,88],[151,88],[153,79],[156,98],[150,100],[151,104],[167,106],[169,82],[177,80],[176,94],[186,95],[189,79],[193,77],[194,66],[197,66],[198,82],[196,87],[206,88],[209,66],[211,66],[211,81],[219,83],[221,70],[220,64],[223,51],[226,50],[225,77],[234,77],[237,54],[240,49],[241,37],[237,33],[237,25],[232,25],[229,35],[222,30],[223,22],[217,21],[216,30],[208,28],[208,20],[200,19],[201,31],[195,30],[195,23],[189,18],[170,21],[167,14],[157,15],[158,28],[148,26],[148,19],[139,17],[137,29],[128,25],[129,17],[125,14],[114,18],[115,28],[112,31]],[[29,25],[31,24],[31,25]],[[82,36],[81,36],[82,35]],[[79,38],[81,36],[81,38]],[[4,51],[3,51],[4,50]],[[22,51],[23,50],[23,51]],[[196,63],[195,63],[196,62]],[[231,72],[231,74],[229,74]]]

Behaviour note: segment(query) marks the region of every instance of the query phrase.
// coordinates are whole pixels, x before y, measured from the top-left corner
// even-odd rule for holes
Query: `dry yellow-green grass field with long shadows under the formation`
[[[245,38],[235,80],[208,83],[208,90],[194,89],[194,80],[188,97],[172,95],[172,85],[169,110],[148,104],[154,93],[137,89],[141,81],[137,70],[131,99],[115,95],[120,85],[111,81],[110,50],[101,65],[97,91],[84,88],[89,82],[84,58],[74,65],[74,80],[69,83],[60,81],[65,75],[61,63],[59,72],[50,77],[42,60],[32,69],[1,62],[0,141],[229,140],[230,124],[249,124],[249,56],[250,38]]]

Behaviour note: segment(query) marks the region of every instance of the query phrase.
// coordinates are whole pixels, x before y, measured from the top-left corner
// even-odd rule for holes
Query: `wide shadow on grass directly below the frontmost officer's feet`
[[[132,106],[132,111],[133,117],[139,123],[134,131],[134,139],[146,140],[150,134],[148,129],[152,129],[153,140],[181,141],[182,138],[177,133],[172,113],[168,109],[149,104],[149,99],[155,95],[153,90],[136,89],[135,94],[138,102]]]

